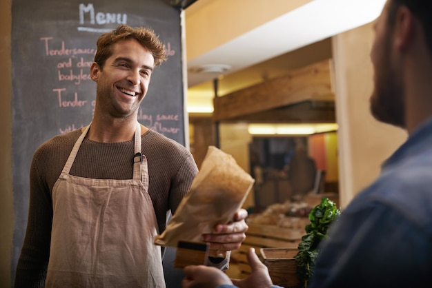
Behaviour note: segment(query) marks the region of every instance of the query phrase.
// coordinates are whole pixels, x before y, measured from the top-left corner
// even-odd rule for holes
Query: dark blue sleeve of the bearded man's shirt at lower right
[[[322,243],[309,288],[424,287],[430,241],[413,218],[383,203],[347,209]]]

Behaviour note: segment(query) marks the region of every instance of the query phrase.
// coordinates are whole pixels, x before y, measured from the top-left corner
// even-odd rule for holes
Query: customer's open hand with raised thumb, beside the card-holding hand
[[[273,285],[268,268],[259,260],[255,249],[248,250],[248,263],[251,266],[251,275],[242,280],[231,279],[239,288],[270,288]]]

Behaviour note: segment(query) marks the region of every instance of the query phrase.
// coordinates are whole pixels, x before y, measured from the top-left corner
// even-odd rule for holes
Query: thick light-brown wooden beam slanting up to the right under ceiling
[[[213,120],[242,118],[303,101],[334,101],[331,60],[300,68],[213,101]]]

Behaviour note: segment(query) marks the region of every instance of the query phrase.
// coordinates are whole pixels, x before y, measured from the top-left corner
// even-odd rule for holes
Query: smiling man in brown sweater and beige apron
[[[181,145],[137,122],[154,68],[165,60],[152,30],[120,25],[97,41],[92,123],[56,136],[30,168],[28,227],[15,287],[165,287],[166,227],[197,174]],[[210,249],[237,249],[247,212],[204,235]],[[228,258],[208,259],[226,269]]]

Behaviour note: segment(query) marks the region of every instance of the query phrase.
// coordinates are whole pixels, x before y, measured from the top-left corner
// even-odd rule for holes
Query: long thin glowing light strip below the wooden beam
[[[302,124],[249,124],[251,135],[311,135],[337,131],[336,123],[302,123]]]

